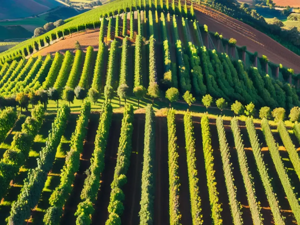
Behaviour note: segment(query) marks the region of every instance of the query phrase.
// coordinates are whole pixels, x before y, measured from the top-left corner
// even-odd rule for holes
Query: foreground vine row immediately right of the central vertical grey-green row
[[[168,110],[168,164],[169,164],[169,212],[170,224],[181,225],[179,211],[178,146],[176,144],[175,110]]]

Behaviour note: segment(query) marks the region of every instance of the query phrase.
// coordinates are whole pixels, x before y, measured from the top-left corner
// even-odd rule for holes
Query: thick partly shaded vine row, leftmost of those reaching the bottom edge
[[[47,174],[51,170],[55,159],[56,149],[67,125],[69,114],[70,108],[66,104],[58,109],[57,116],[52,123],[52,129],[46,140],[46,146],[41,150],[40,157],[37,160],[38,166],[29,171],[18,199],[11,206],[10,216],[8,217],[9,224],[22,224],[25,219],[30,217],[31,209],[38,204]]]

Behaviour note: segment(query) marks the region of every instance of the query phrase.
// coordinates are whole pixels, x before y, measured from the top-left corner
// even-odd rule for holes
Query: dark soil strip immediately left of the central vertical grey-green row
[[[137,118],[139,117],[139,118]],[[128,168],[127,183],[124,185],[123,192],[125,194],[124,212],[121,216],[122,224],[139,224],[140,217],[140,200],[141,200],[141,184],[143,170],[143,149],[144,149],[144,130],[145,118],[140,115],[134,115],[132,134],[132,153],[130,157],[130,165]]]

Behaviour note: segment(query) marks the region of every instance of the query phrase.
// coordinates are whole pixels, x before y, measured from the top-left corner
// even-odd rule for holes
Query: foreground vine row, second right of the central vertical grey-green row
[[[195,138],[194,138],[194,127],[192,116],[189,111],[187,111],[183,118],[184,121],[184,134],[185,134],[185,149],[187,153],[187,173],[190,187],[190,205],[192,213],[193,225],[202,224],[202,208],[201,199],[199,194],[199,179],[197,178],[197,168],[196,168],[196,156],[195,156]]]

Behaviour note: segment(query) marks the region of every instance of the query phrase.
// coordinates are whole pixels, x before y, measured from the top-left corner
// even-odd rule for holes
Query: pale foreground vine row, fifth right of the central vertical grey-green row
[[[234,117],[230,122],[232,134],[234,137],[235,149],[238,154],[238,163],[240,165],[241,174],[243,176],[244,185],[247,192],[247,199],[252,215],[253,224],[262,225],[262,215],[260,213],[260,203],[256,201],[253,177],[250,174],[247,164],[247,157],[244,151],[244,144],[241,140],[241,131],[238,127],[238,120]]]

